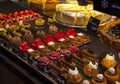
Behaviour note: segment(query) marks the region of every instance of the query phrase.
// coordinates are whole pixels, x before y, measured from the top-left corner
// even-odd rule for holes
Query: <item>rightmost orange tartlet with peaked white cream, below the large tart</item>
[[[115,67],[117,61],[115,60],[114,54],[106,54],[105,58],[102,59],[101,64],[106,68]]]

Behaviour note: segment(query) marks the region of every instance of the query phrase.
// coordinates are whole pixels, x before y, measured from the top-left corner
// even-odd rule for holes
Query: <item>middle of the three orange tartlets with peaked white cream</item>
[[[90,61],[89,64],[84,66],[83,71],[84,71],[85,75],[88,77],[95,76],[99,72],[98,63]]]

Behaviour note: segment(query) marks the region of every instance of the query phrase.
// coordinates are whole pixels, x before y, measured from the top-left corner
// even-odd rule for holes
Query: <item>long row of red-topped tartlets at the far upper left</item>
[[[5,26],[7,24],[18,23],[20,20],[30,21],[42,17],[39,13],[32,10],[24,10],[15,13],[3,14],[0,18],[0,23]]]

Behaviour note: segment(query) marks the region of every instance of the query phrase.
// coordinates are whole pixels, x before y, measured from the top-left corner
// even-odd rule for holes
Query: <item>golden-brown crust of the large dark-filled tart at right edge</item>
[[[104,44],[107,44],[108,46],[111,46],[115,49],[120,50],[120,39],[112,38],[108,33],[108,30],[110,30],[111,27],[116,26],[117,24],[120,24],[120,19],[111,21],[107,23],[103,28],[100,29],[100,39]]]

